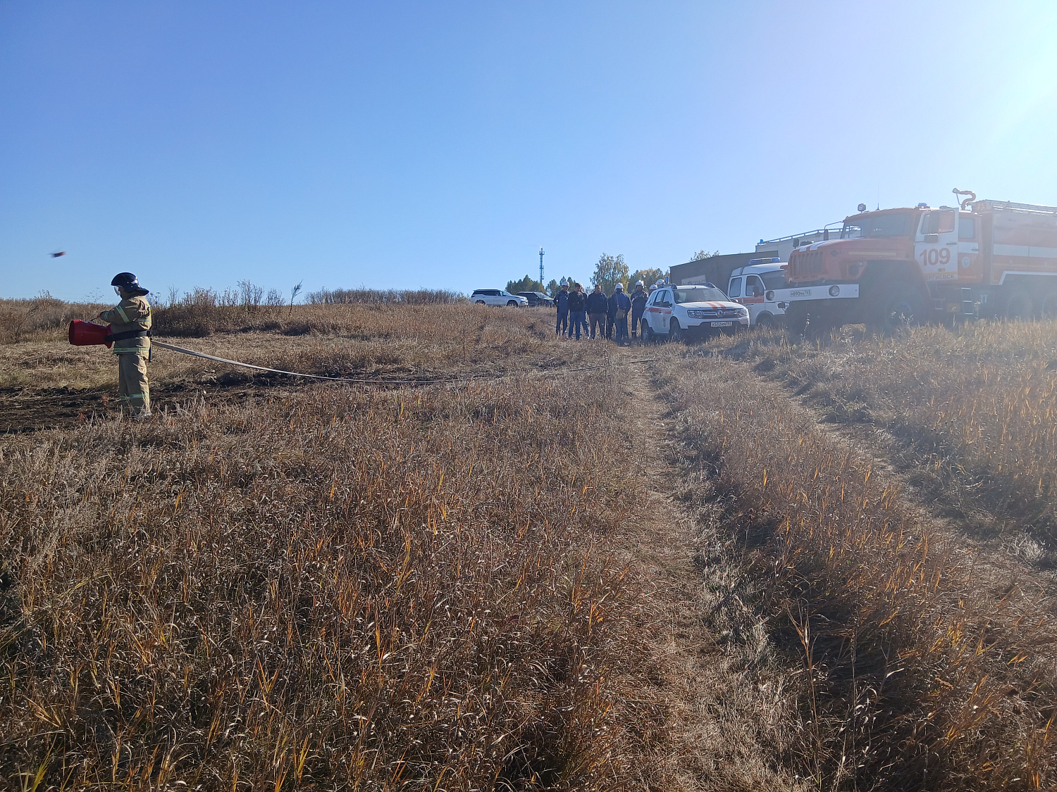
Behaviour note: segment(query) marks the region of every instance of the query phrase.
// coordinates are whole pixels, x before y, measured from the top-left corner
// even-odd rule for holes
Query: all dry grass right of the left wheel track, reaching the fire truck
[[[960,529],[1052,541],[1057,324],[659,354],[687,475],[729,521],[731,592],[802,663],[803,771],[833,788],[1050,788],[1053,586],[1023,563],[1047,554]],[[858,429],[839,439],[818,410]]]

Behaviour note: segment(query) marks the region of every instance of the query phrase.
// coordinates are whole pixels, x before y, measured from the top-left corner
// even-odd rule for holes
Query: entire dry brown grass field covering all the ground
[[[1057,782],[1057,325],[174,307],[157,337],[378,385],[159,353],[123,421],[62,336],[91,306],[5,339],[0,787]]]

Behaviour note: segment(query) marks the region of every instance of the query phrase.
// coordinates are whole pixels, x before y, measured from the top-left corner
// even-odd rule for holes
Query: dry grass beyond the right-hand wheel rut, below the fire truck
[[[898,339],[847,333],[814,347],[777,339],[748,355],[824,420],[885,447],[960,529],[1053,563],[1057,324],[919,327]]]

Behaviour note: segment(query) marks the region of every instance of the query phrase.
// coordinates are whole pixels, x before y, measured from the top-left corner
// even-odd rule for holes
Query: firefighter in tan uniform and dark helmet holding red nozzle
[[[110,323],[110,338],[117,356],[117,391],[122,410],[146,418],[150,415],[150,384],[147,361],[150,359],[150,303],[147,289],[141,288],[131,272],[118,272],[110,282],[122,298],[98,318]]]

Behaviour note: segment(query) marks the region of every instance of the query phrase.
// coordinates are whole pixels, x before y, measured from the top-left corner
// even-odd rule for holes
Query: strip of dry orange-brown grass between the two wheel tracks
[[[1049,788],[1052,580],[942,530],[749,365],[666,357],[687,497],[723,510],[717,607],[752,603],[800,665],[800,772],[820,789]]]

